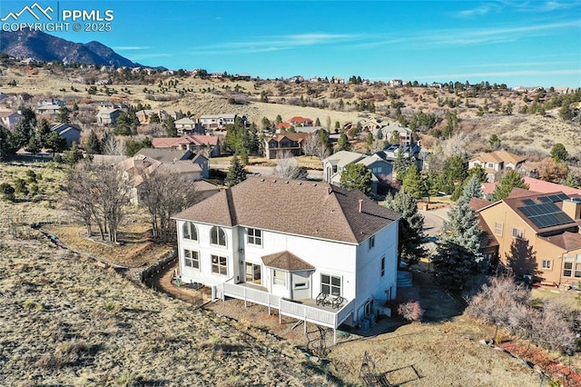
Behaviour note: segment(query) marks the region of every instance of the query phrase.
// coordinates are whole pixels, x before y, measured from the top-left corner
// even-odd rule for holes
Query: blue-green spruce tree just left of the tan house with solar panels
[[[478,216],[461,198],[444,221],[436,255],[432,259],[440,283],[449,290],[460,291],[468,278],[484,269],[480,252],[482,230]]]

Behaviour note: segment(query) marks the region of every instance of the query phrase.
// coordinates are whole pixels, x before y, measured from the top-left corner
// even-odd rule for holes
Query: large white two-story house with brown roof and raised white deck
[[[182,283],[215,298],[336,330],[396,297],[399,213],[358,190],[251,177],[173,218]]]

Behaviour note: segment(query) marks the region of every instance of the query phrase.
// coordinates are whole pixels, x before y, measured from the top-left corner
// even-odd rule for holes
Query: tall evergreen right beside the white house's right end
[[[409,265],[419,262],[425,253],[424,217],[418,211],[418,202],[405,187],[395,196],[388,196],[385,206],[400,213],[398,259]],[[399,264],[398,264],[399,267]]]

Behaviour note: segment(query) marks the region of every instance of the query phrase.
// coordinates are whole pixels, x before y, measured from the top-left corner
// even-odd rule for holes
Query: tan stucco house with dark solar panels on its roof
[[[581,282],[581,196],[515,188],[492,203],[472,199],[487,238],[483,252],[517,275],[547,284]]]

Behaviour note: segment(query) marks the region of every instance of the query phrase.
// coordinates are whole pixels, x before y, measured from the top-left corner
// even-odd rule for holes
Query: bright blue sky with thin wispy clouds
[[[113,10],[110,32],[51,34],[97,40],[143,65],[262,78],[581,86],[580,0],[37,3]],[[0,17],[33,4],[2,0]]]

